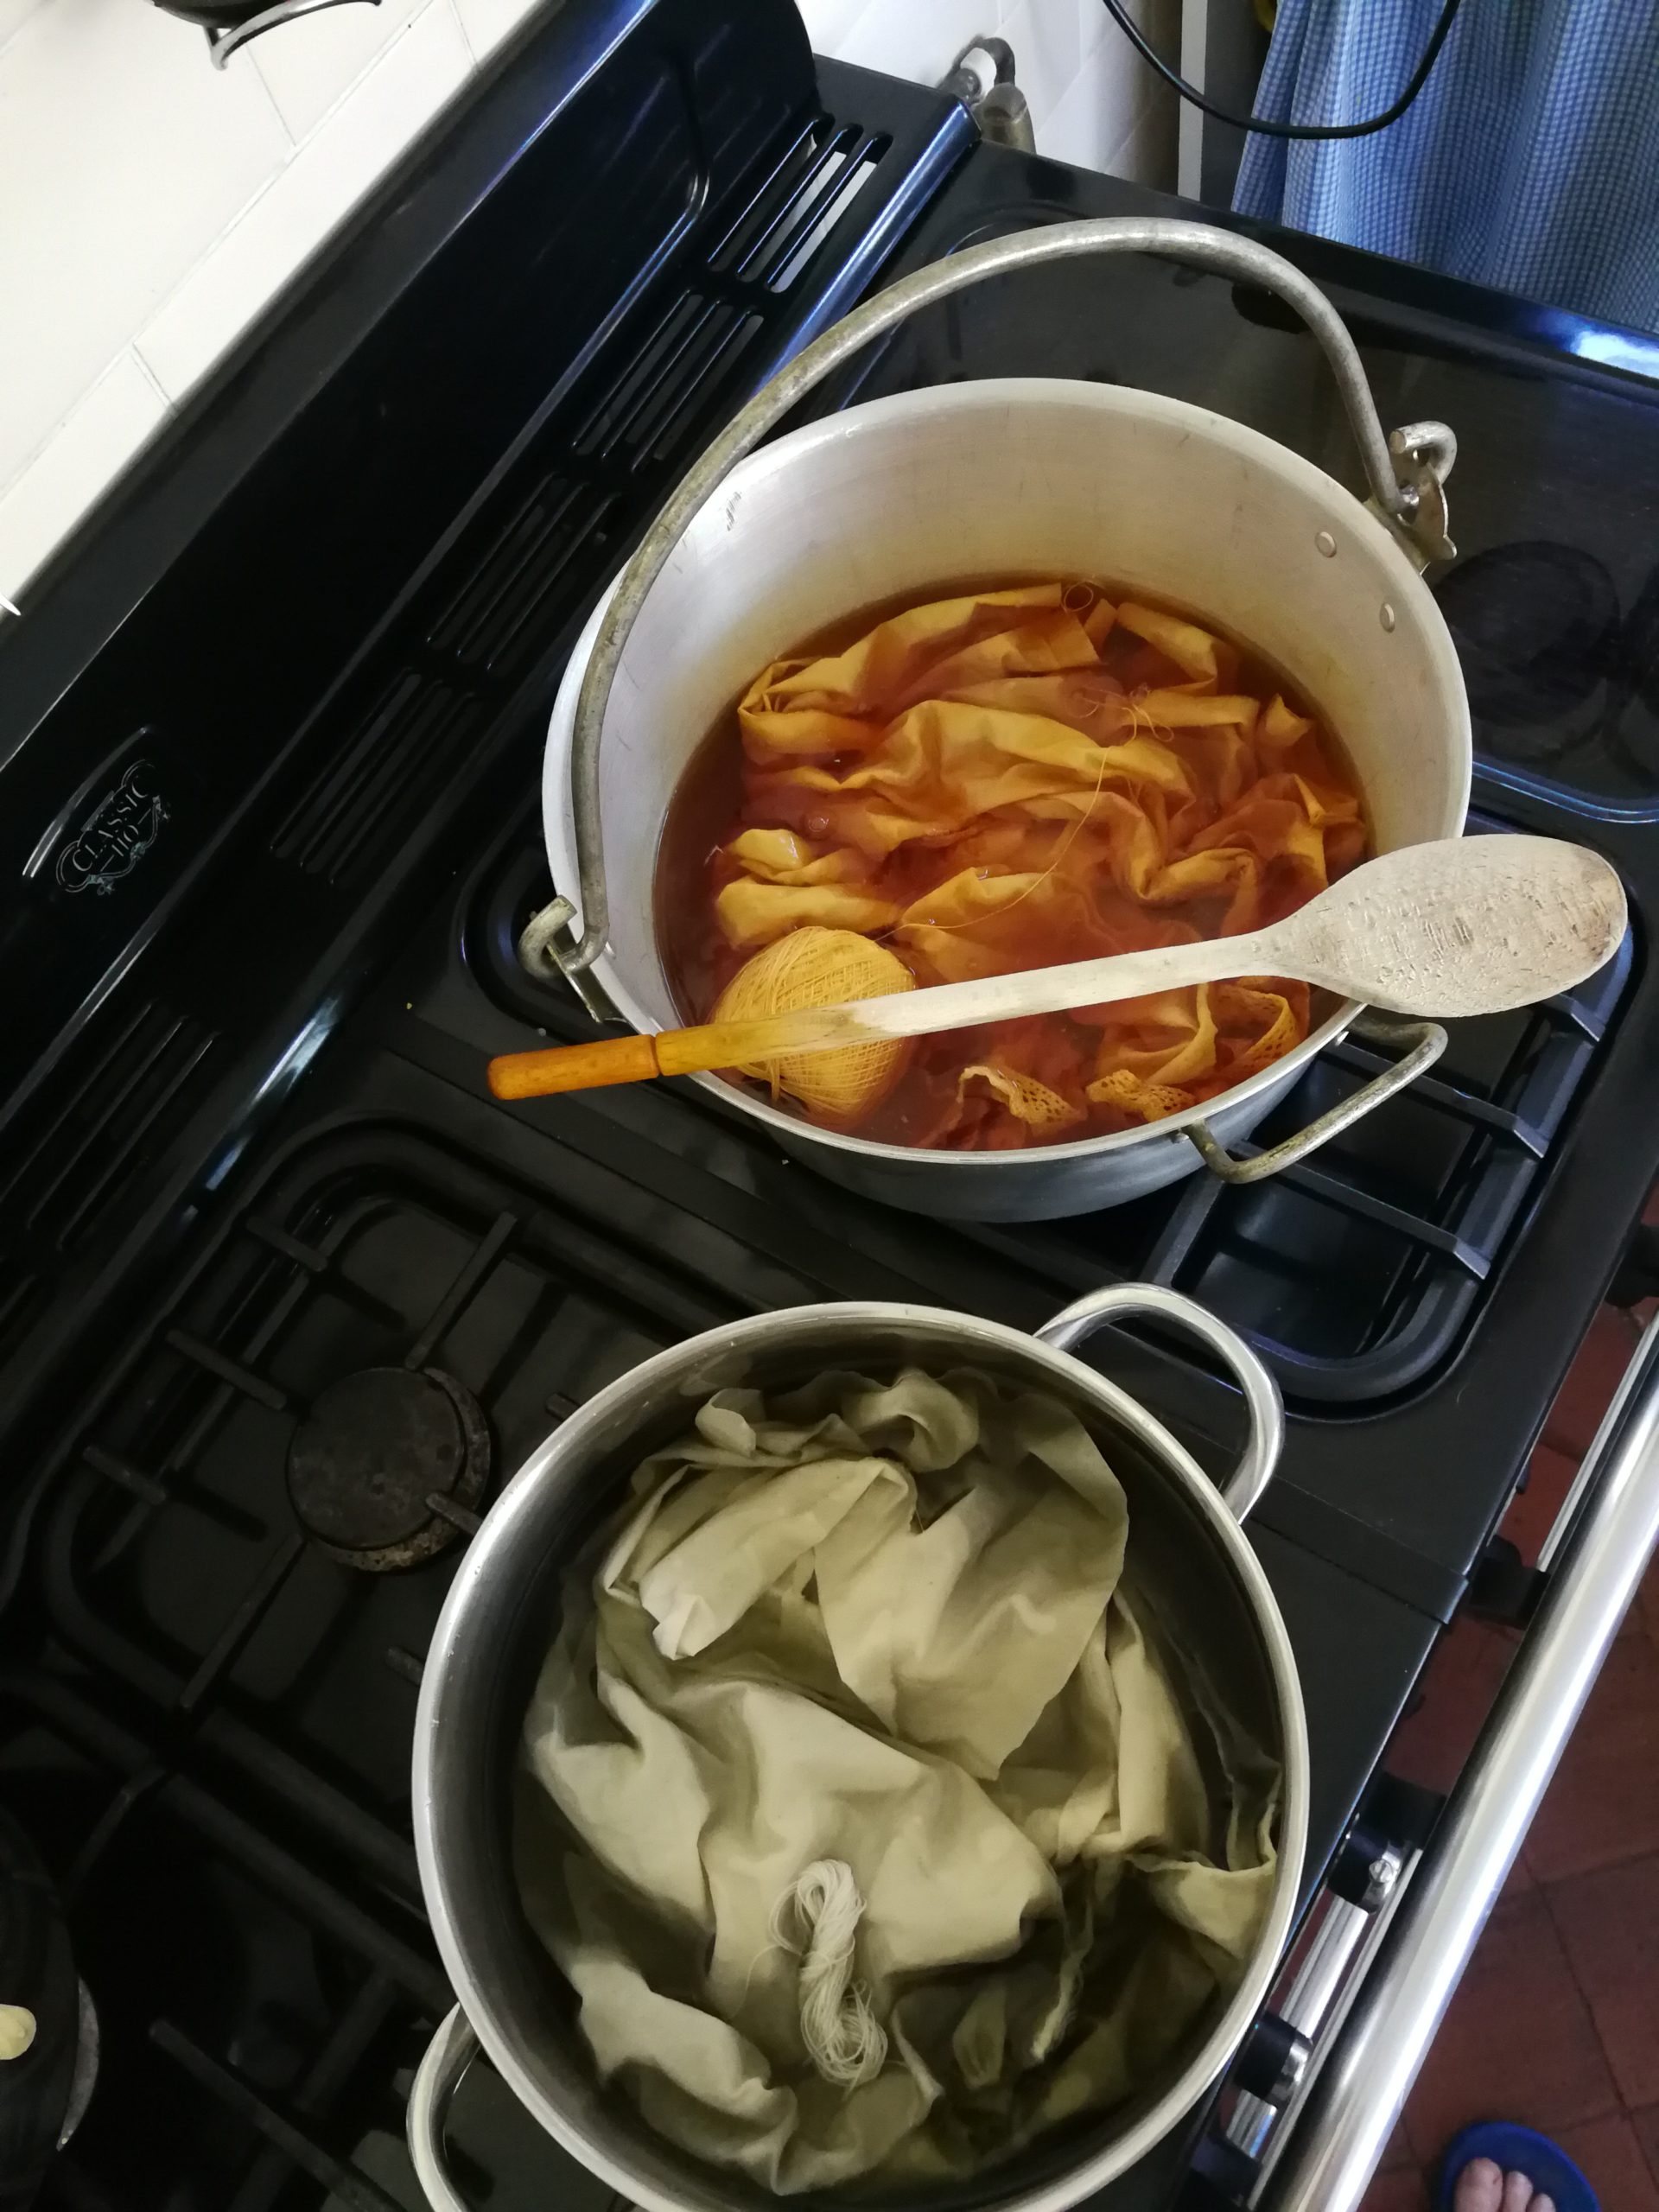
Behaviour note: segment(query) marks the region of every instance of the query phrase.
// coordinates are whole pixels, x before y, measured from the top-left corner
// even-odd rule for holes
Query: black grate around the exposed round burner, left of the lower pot
[[[690,1279],[411,1133],[303,1146],[75,1440],[44,1537],[58,1637],[414,1902],[409,1672],[447,1575],[396,1568],[478,1526],[487,1467],[518,1467],[549,1413],[748,1312],[726,1274],[710,1250]],[[367,1440],[345,1402],[365,1389]],[[427,1440],[420,1495],[389,1495],[383,1431],[411,1389],[465,1469],[434,1471],[447,1440]]]

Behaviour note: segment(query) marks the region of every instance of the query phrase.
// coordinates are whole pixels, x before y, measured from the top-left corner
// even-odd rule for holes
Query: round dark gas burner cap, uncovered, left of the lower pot
[[[440,1367],[365,1367],[316,1398],[288,1447],[288,1495],[332,1559],[383,1575],[456,1542],[489,1478],[489,1425]]]

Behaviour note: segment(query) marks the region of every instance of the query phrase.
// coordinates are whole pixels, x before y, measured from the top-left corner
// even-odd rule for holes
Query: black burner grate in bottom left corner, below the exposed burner
[[[299,2170],[334,2203],[411,2212],[407,2166],[367,2170],[361,2135],[367,2108],[394,2141],[449,2006],[420,1918],[352,1898],[86,1683],[7,1668],[0,1708],[7,1801],[53,1865],[100,2017],[53,2203],[113,2212],[188,2168],[190,2203],[272,2212]]]

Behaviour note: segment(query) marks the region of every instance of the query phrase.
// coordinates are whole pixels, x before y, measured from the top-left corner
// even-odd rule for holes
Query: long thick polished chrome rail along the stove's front
[[[1659,1542],[1659,1318],[1544,1546],[1548,1586],[1261,2212],[1354,2212]]]

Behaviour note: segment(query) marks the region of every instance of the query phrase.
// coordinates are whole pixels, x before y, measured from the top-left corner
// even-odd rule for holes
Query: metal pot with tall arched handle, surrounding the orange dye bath
[[[805,392],[918,307],[982,276],[1102,252],[1168,254],[1287,301],[1336,374],[1371,504],[1203,407],[1060,378],[900,392],[752,451]],[[580,896],[531,922],[520,958],[540,973],[555,960],[602,1015],[622,1013],[639,1031],[675,1024],[653,872],[697,741],[781,646],[836,615],[973,575],[1104,575],[1214,617],[1329,717],[1378,852],[1458,836],[1469,703],[1420,575],[1425,560],[1451,551],[1442,480],[1453,453],[1438,422],[1385,440],[1329,301],[1250,239],[1179,221],[1053,223],[918,270],[810,345],[737,416],[595,611],[560,688],[542,781],[553,883]],[[1378,1040],[1405,1053],[1398,1066],[1285,1144],[1234,1161],[1228,1144],[1250,1135],[1360,1011],[1336,1006],[1217,1102],[1022,1152],[872,1144],[717,1075],[695,1079],[854,1190],[920,1212],[1033,1221],[1141,1197],[1199,1159],[1254,1181],[1314,1150],[1444,1048],[1436,1024],[1378,1022]]]

